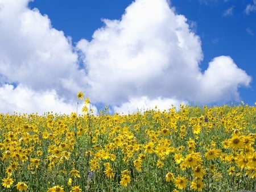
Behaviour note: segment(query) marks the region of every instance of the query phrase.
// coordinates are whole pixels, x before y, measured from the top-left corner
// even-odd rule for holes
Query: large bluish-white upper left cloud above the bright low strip
[[[77,70],[77,53],[70,38],[52,28],[47,15],[28,9],[27,3],[1,1],[1,84],[15,82],[37,91],[55,89],[70,97],[82,87],[84,77],[83,70]]]

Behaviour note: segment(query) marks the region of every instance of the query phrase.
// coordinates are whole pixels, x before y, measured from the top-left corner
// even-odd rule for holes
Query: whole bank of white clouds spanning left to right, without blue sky
[[[229,56],[202,72],[200,37],[166,0],[137,0],[121,19],[102,21],[91,41],[73,47],[28,0],[0,0],[0,111],[71,112],[81,90],[93,103],[134,112],[239,99],[250,84]]]

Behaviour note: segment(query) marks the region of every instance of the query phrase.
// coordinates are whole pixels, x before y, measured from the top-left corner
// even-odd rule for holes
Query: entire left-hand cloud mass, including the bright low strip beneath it
[[[73,111],[69,102],[85,73],[70,37],[27,0],[1,0],[0,7],[0,112]]]

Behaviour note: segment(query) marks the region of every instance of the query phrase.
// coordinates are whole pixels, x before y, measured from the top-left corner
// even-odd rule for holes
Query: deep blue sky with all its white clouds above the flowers
[[[0,113],[255,105],[255,35],[255,0],[0,0]]]

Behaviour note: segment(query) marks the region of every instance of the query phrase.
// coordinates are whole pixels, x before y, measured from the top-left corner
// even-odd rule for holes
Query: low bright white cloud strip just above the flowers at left
[[[76,102],[67,103],[60,98],[55,90],[34,91],[26,86],[4,85],[0,87],[0,111],[6,112],[38,112],[43,114],[47,111],[69,114],[76,112]]]

